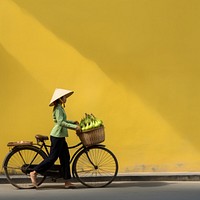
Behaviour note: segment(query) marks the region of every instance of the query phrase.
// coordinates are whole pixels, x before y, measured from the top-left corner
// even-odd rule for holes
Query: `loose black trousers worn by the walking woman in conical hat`
[[[44,159],[38,166],[36,166],[34,168],[34,171],[36,171],[37,173],[45,173],[45,171],[50,169],[56,162],[56,160],[59,158],[63,179],[70,179],[70,154],[65,138],[57,138],[50,136],[50,140],[51,148],[49,157]]]

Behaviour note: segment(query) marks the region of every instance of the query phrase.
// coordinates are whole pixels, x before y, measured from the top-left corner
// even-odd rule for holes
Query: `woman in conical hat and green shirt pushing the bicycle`
[[[55,161],[59,158],[61,164],[62,177],[65,180],[65,188],[73,188],[74,185],[69,181],[70,173],[70,154],[65,137],[68,137],[67,129],[80,131],[80,126],[77,121],[67,120],[64,110],[67,98],[74,92],[64,89],[56,89],[52,96],[49,106],[53,108],[54,127],[50,133],[51,148],[50,155],[44,159],[34,171],[30,173],[32,184],[37,187],[37,173],[44,173],[53,166]]]

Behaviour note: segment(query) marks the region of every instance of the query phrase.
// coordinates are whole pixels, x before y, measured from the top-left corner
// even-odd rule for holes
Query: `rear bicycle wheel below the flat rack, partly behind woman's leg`
[[[30,177],[31,169],[42,162],[47,155],[34,146],[17,146],[7,155],[3,168],[8,181],[19,189],[34,188]],[[40,185],[45,176],[37,176],[37,184]]]

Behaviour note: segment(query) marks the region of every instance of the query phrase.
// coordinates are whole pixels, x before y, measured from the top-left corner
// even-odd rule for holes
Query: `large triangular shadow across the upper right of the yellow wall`
[[[96,62],[113,81],[137,92],[183,137],[199,146],[199,40],[188,32],[191,28],[195,32],[190,22],[199,14],[191,5],[132,0],[13,1]]]

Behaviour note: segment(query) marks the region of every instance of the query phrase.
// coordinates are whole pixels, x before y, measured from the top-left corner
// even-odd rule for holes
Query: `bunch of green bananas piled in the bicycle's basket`
[[[103,122],[97,119],[93,114],[85,113],[85,117],[80,121],[81,130],[83,132],[98,128],[101,125],[103,125]]]

